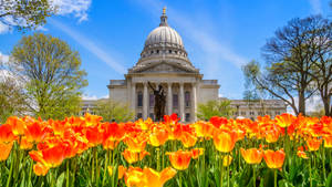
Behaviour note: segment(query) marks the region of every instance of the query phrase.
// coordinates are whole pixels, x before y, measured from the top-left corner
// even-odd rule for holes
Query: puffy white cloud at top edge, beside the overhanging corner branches
[[[79,21],[87,20],[87,10],[92,0],[52,0],[51,3],[56,8],[56,14],[73,14]]]

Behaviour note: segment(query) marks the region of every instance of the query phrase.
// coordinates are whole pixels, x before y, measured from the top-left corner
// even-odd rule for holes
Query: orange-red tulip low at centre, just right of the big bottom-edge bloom
[[[191,152],[177,150],[172,153],[166,153],[169,156],[170,164],[177,170],[185,170],[189,167],[190,159],[193,157]]]

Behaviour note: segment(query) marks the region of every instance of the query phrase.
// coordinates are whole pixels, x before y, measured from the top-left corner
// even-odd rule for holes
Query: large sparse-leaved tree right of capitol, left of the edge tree
[[[318,44],[315,30],[320,20],[317,15],[289,21],[263,46],[264,70],[256,61],[243,67],[246,77],[257,89],[284,101],[297,115],[305,115],[305,100],[317,91],[309,72],[314,69],[312,59],[317,51],[312,49]]]

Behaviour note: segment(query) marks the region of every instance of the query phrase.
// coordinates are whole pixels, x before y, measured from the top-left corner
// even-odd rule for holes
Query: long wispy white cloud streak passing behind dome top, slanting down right
[[[165,6],[160,0],[135,0],[141,7],[145,8],[153,17],[159,17],[162,7]],[[148,6],[147,6],[148,4]],[[216,77],[220,74],[221,61],[234,63],[238,69],[248,62],[248,60],[230,49],[226,43],[220,41],[217,35],[205,30],[201,22],[197,22],[193,17],[186,17],[167,6],[167,14],[172,15],[175,28],[184,32],[194,43],[203,51],[206,59],[205,75]]]

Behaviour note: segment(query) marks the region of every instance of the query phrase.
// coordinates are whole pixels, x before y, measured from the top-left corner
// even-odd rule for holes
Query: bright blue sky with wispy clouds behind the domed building
[[[241,65],[262,62],[260,49],[292,18],[331,17],[329,0],[56,0],[59,12],[39,32],[66,41],[81,54],[89,86],[84,97],[108,94],[110,80],[138,60],[148,33],[167,7],[168,23],[183,38],[204,79],[217,79],[219,94],[241,98]],[[28,32],[24,34],[31,34]],[[0,55],[10,54],[23,33],[0,24]]]

